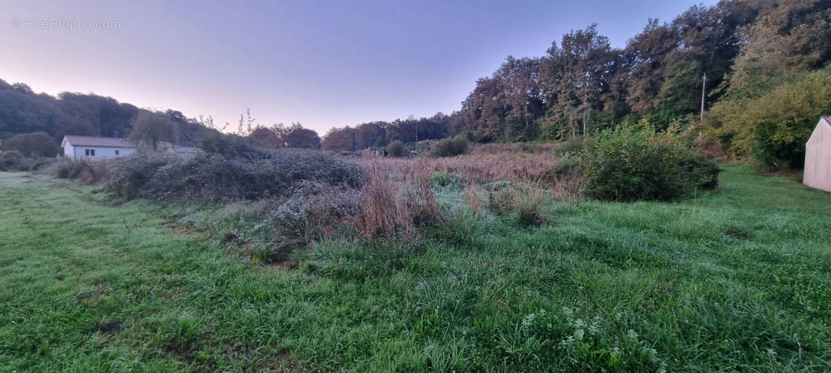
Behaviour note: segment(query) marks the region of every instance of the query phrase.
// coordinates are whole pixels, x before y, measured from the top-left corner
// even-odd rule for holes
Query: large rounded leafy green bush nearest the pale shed
[[[674,133],[618,128],[580,153],[588,195],[607,201],[668,201],[717,183],[718,169]]]

